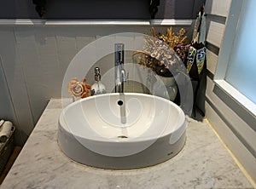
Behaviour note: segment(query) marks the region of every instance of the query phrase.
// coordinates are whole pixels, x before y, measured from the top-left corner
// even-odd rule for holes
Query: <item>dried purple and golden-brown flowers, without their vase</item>
[[[186,42],[186,31],[182,28],[177,33],[172,31],[172,27],[167,28],[166,35],[154,31],[151,28],[152,36],[144,39],[143,50],[137,50],[133,55],[139,54],[138,64],[151,68],[160,76],[170,77],[170,66],[175,66],[177,57],[183,62],[186,59],[189,43]],[[173,49],[173,51],[170,50]]]

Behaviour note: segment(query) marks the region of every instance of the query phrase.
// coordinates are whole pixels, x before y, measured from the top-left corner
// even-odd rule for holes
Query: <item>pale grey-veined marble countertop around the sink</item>
[[[176,157],[134,170],[95,169],[74,163],[57,143],[61,100],[50,100],[1,188],[252,188],[205,122],[189,120]]]

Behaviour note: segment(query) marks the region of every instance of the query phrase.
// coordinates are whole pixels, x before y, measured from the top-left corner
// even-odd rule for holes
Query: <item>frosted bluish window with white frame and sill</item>
[[[215,82],[256,115],[255,0],[233,0],[218,56]]]

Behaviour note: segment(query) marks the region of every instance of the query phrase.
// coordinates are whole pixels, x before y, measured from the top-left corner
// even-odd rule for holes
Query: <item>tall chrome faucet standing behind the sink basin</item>
[[[125,45],[123,43],[114,44],[114,92],[124,93],[125,85],[125,68],[124,68],[124,52]]]

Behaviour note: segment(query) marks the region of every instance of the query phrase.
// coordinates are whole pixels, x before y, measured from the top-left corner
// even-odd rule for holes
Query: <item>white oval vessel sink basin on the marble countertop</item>
[[[170,100],[149,94],[100,94],[66,106],[59,118],[62,152],[102,169],[138,169],[175,156],[186,119]]]

